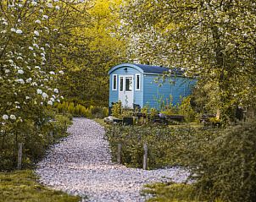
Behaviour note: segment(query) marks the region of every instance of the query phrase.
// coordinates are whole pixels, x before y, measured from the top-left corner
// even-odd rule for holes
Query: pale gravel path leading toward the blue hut
[[[183,182],[188,176],[178,168],[144,171],[114,164],[104,129],[92,120],[74,118],[69,132],[38,163],[36,173],[41,183],[81,195],[82,202],[141,202],[145,201],[140,195],[144,184]]]

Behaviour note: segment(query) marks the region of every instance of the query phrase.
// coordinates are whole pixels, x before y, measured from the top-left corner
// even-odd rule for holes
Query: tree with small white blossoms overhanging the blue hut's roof
[[[125,23],[133,35],[142,35],[136,39],[143,44],[136,51],[136,58],[142,61],[150,58],[149,62],[186,68],[187,73],[198,74],[198,90],[213,86],[211,99],[222,112],[255,103],[256,3],[248,0],[128,2],[124,7]],[[147,35],[151,38],[154,35],[156,40],[149,38],[148,42]]]

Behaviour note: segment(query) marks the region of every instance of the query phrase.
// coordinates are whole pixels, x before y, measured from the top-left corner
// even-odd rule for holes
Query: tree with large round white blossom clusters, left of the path
[[[51,106],[61,98],[57,77],[64,72],[49,57],[59,48],[53,24],[62,3],[58,0],[3,0],[0,2],[0,131],[4,141],[29,139],[53,116]],[[56,17],[57,16],[57,17]],[[64,48],[62,46],[61,48]],[[6,139],[12,134],[13,139]],[[3,149],[3,148],[2,148]],[[1,156],[1,153],[0,153]]]

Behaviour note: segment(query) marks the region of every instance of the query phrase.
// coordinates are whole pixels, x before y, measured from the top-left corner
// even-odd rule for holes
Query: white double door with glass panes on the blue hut
[[[133,76],[120,75],[119,100],[125,108],[133,107]]]

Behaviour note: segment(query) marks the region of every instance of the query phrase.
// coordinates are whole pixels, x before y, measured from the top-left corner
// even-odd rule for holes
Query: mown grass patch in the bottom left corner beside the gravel
[[[1,202],[78,202],[81,198],[36,183],[31,170],[0,172]]]

